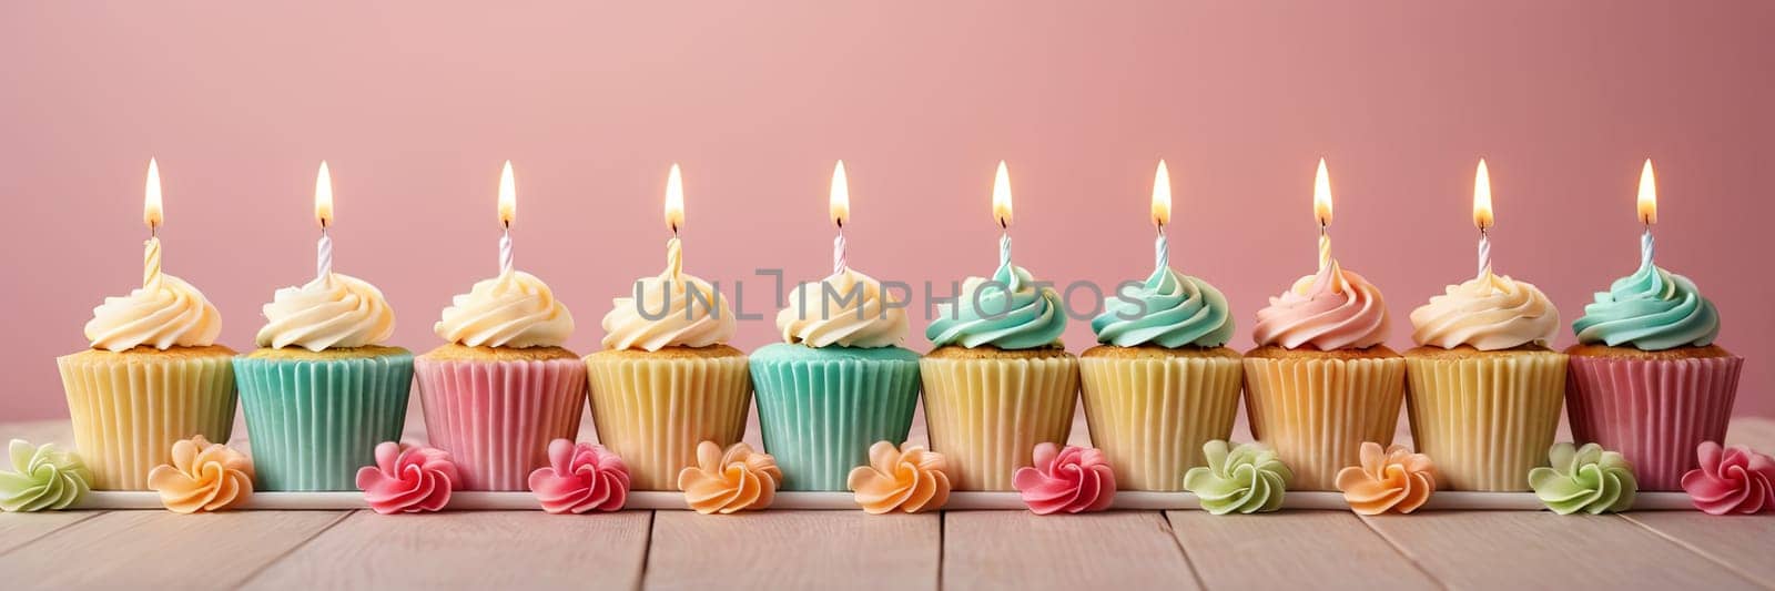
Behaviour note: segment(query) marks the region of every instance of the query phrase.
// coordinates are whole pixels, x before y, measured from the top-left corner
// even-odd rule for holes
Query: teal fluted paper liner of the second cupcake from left
[[[376,444],[401,440],[414,355],[234,359],[256,490],[357,490]]]

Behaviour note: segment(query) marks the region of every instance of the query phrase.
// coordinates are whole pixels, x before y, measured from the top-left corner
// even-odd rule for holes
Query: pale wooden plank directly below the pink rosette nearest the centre
[[[955,511],[943,516],[946,589],[1200,589],[1164,515]]]

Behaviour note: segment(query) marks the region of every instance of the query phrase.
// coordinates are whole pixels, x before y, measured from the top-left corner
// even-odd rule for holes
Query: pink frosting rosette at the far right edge
[[[1745,445],[1702,442],[1700,467],[1683,474],[1683,490],[1708,515],[1775,511],[1775,460]]]

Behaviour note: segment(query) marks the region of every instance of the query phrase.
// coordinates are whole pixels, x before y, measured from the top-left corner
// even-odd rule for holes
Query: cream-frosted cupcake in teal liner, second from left
[[[257,490],[357,490],[376,444],[401,438],[414,355],[382,346],[394,312],[376,286],[327,273],[277,289],[259,350],[234,359]]]

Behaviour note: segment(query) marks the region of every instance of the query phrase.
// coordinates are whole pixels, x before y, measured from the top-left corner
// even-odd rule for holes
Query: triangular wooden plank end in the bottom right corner
[[[1700,511],[1626,513],[1660,536],[1699,552],[1715,563],[1775,589],[1775,515],[1713,516]]]

